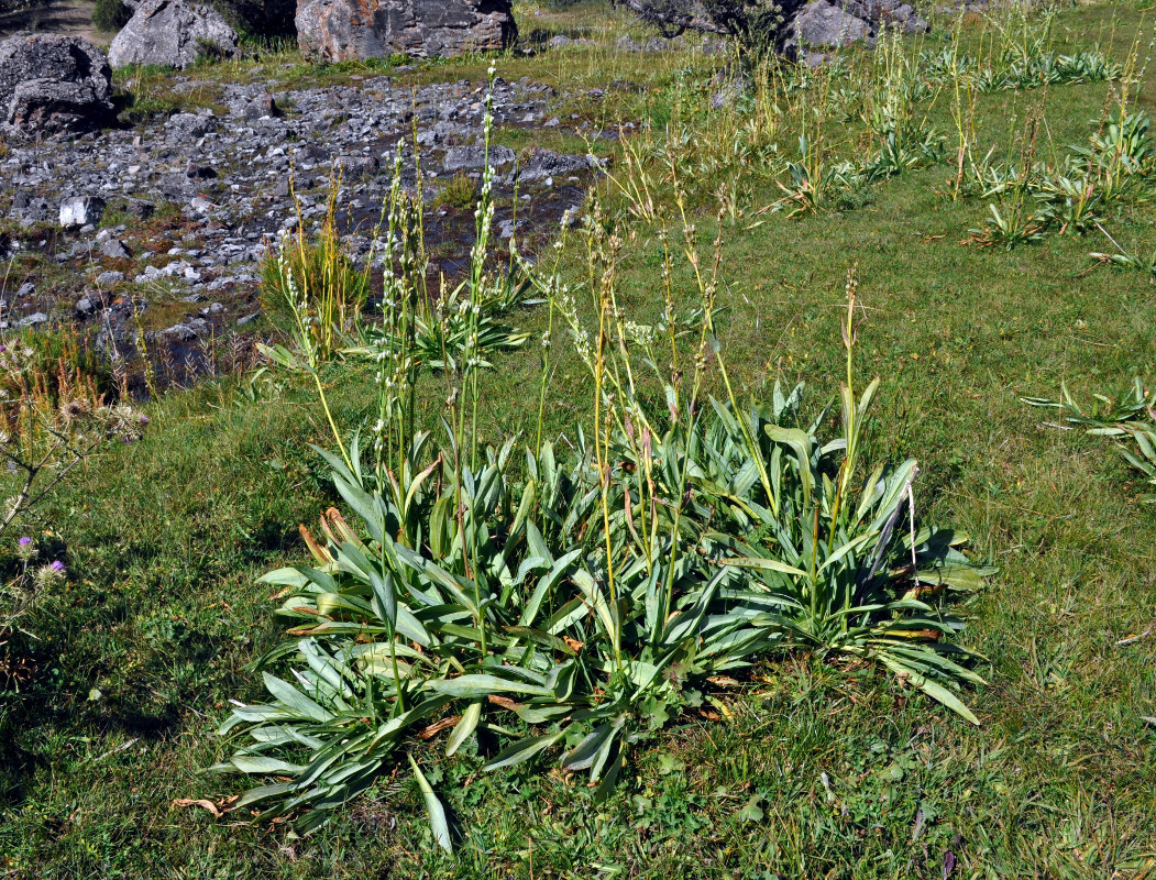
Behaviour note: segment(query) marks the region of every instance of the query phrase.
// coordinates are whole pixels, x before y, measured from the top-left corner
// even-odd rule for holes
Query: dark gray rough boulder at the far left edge
[[[113,116],[112,71],[87,39],[18,34],[0,43],[0,128],[7,133],[75,134]]]

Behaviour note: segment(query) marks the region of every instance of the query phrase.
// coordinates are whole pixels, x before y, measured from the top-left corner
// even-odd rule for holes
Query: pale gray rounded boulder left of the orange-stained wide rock
[[[116,69],[158,65],[185,69],[199,56],[232,57],[237,32],[208,6],[186,0],[144,0],[109,47]]]

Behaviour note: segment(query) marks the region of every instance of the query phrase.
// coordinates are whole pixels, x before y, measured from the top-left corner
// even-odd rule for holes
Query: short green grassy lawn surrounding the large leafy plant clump
[[[587,6],[543,17],[555,31],[596,22]],[[1055,39],[1102,38],[1122,60],[1138,32],[1147,43],[1144,20],[1127,5],[1083,5],[1059,14]],[[929,49],[946,44],[944,28]],[[613,45],[617,32],[600,39]],[[686,97],[687,76],[669,59],[606,45],[558,58],[502,73],[591,88],[642,82],[645,91],[609,89],[584,112],[596,123],[675,108],[705,120],[696,131],[706,142],[709,91]],[[462,64],[451,79],[482,72]],[[1149,71],[1141,109],[1150,111],[1154,86]],[[1032,119],[1046,123],[1032,130],[1040,160],[1087,142],[1114,88],[980,95],[978,151],[994,145],[996,158],[1014,158]],[[920,106],[950,153],[948,96]],[[860,142],[860,128],[837,118],[828,131],[832,155]],[[796,136],[781,135],[792,156]],[[855,209],[792,221],[759,213],[783,193],[740,168],[735,208],[721,220],[718,328],[743,392],[802,380],[817,413],[842,377],[844,283],[857,267],[857,367],[882,379],[870,456],[917,458],[919,516],[966,531],[971,552],[1000,569],[958,608],[962,641],[985,658],[977,670],[990,682],[965,694],[979,727],[873,667],[801,653],[724,689],[717,710],[673,719],[601,804],[556,761],[482,774],[473,742],[452,761],[416,746],[460,833],[452,857],[433,846],[408,776],[381,778],[304,838],[175,807],[239,790],[203,768],[225,753],[215,731],[227,701],[259,698],[245,666],[282,629],[273,590],[254,580],[303,560],[298,523],[340,503],[307,448],[328,443],[309,389],[277,378],[249,394],[222,380],[153,405],[143,441],[91,463],[27,525],[72,574],[27,623],[39,636],[34,671],[0,697],[0,875],[1156,877],[1156,727],[1143,720],[1156,715],[1156,637],[1118,644],[1156,619],[1156,511],[1136,502],[1131,472],[1102,439],[1050,427],[1047,412],[1021,402],[1058,397],[1061,383],[1088,398],[1133,376],[1156,380],[1151,279],[1090,260],[1112,251],[1096,228],[1010,251],[968,244],[990,222],[991,199],[950,200],[951,175],[947,162],[905,171],[869,186]],[[688,184],[704,253],[717,232],[712,192],[726,179],[712,168]],[[662,224],[629,219],[609,184],[603,199],[624,219],[623,304],[654,320]],[[1150,254],[1150,207],[1124,200],[1101,225]],[[579,251],[575,242],[563,257],[575,283]],[[689,305],[689,269],[677,264],[673,281]],[[543,308],[516,316],[534,334],[546,321]],[[572,437],[590,419],[590,382],[572,354],[561,357],[547,428]],[[531,346],[483,375],[487,439],[533,434],[539,369]],[[340,365],[325,378],[338,422],[356,426],[371,380]],[[425,400],[423,419],[436,423],[437,390]]]

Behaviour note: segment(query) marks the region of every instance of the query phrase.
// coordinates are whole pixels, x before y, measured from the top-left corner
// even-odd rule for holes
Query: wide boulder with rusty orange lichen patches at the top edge
[[[518,36],[511,0],[298,0],[297,42],[326,61],[449,58],[505,49]]]

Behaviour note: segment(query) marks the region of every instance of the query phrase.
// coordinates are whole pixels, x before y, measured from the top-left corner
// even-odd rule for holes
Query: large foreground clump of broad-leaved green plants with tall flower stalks
[[[399,149],[387,241],[400,241],[388,257],[401,272],[386,274],[375,341],[350,352],[376,368],[372,443],[363,446],[361,431],[343,438],[318,380],[338,449],[317,451],[351,517],[328,510],[324,540],[303,526],[313,564],[262,578],[280,589],[280,613],[294,626],[259,664],[272,700],[237,705],[221,732],[243,742],[215,769],[279,781],[232,809],[292,815],[309,830],[405,755],[435,838],[451,849],[412,738],[445,731],[452,756],[484,732],[501,744],[489,770],[563,748],[562,769],[587,772],[605,797],[632,747],[701,703],[712,679],[800,650],[881,666],[978,724],[958,688],[983,679],[951,641],[962,623],[946,601],[992,571],[961,553],[966,535],[917,524],[916,461],[864,460],[879,380],[855,387],[853,278],[842,432],[827,439],[825,411],[801,419],[801,387],[776,386],[746,405],[731,391],[713,327],[718,261],[716,276],[701,280],[694,320],[625,320],[614,281],[622,239],[594,205],[586,237],[591,278],[601,279],[596,331],[583,326],[557,275],[535,275],[590,370],[592,434],[579,427],[565,459],[549,442],[527,444],[517,479],[517,441],[484,445],[476,428],[484,320],[507,306],[494,294],[501,275],[487,267],[492,171],[470,275],[454,308],[436,312],[439,338],[460,346],[435,362],[416,345],[422,249],[395,235],[409,213],[398,198],[400,161]],[[698,266],[692,237],[686,247]],[[316,335],[302,316],[296,323],[304,356],[272,353],[316,378]],[[664,335],[669,357],[657,353]],[[662,386],[657,413],[639,394],[644,364]],[[449,386],[437,446],[413,428],[421,377],[433,367]],[[709,370],[725,398],[706,393]],[[549,372],[547,356],[543,407]]]

